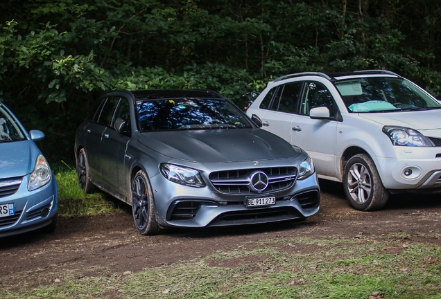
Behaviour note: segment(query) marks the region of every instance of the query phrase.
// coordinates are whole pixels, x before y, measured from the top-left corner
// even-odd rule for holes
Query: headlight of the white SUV
[[[383,133],[386,134],[392,145],[410,146],[410,147],[433,147],[433,143],[418,132],[417,130],[406,127],[383,127]]]

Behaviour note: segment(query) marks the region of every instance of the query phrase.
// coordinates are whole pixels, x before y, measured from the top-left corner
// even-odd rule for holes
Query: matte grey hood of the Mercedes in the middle
[[[263,129],[148,132],[139,134],[138,141],[170,158],[200,163],[293,158],[301,153]]]

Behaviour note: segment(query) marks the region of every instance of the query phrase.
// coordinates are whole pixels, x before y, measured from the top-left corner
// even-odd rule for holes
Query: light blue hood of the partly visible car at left
[[[33,141],[0,143],[0,179],[31,173],[38,154],[40,150]]]

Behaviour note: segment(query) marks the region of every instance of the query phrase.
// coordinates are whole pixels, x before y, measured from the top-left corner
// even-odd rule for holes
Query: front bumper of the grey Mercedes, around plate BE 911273
[[[165,181],[164,181],[165,180]],[[155,199],[156,219],[162,226],[200,228],[206,226],[231,226],[261,224],[289,219],[304,219],[318,212],[320,188],[314,173],[293,186],[268,193],[276,197],[271,206],[245,205],[247,196],[224,194],[206,186],[192,188],[167,181],[162,175],[150,178]],[[166,184],[167,188],[155,188]],[[254,194],[265,197],[268,194]]]

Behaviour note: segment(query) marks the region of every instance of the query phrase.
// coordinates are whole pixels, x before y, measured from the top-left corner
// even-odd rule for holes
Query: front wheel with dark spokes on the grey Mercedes
[[[132,214],[141,235],[156,235],[160,228],[155,216],[155,202],[146,173],[139,170],[132,181]]]

